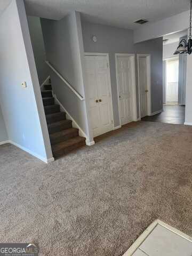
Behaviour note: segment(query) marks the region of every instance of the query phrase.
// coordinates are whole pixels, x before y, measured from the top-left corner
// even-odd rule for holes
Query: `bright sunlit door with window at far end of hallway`
[[[166,60],[166,106],[178,105],[179,58]]]

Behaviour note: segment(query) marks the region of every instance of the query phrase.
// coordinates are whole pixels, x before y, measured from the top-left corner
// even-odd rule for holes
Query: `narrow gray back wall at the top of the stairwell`
[[[41,21],[40,18],[33,16],[28,16],[27,20],[29,25],[31,44],[33,47],[35,57],[35,64],[37,68],[39,84],[41,85],[49,76],[49,68],[45,63],[46,53],[43,41]]]

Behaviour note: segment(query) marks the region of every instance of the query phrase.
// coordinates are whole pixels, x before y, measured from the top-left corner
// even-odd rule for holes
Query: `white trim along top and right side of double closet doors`
[[[114,127],[114,111],[113,111],[113,101],[112,101],[112,93],[111,93],[111,79],[110,79],[110,63],[109,63],[109,53],[105,52],[84,52],[84,56],[106,56],[108,62],[108,78],[109,78],[109,97],[110,97],[110,105],[111,105],[111,121]]]

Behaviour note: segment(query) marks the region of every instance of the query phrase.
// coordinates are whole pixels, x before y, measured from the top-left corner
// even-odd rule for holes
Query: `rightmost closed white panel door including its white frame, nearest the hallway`
[[[151,115],[150,54],[138,54],[138,87],[140,118]]]

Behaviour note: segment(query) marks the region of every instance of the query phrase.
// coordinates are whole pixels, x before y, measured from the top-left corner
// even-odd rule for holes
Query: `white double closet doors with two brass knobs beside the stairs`
[[[85,56],[86,88],[93,137],[113,130],[109,68],[106,56]]]

